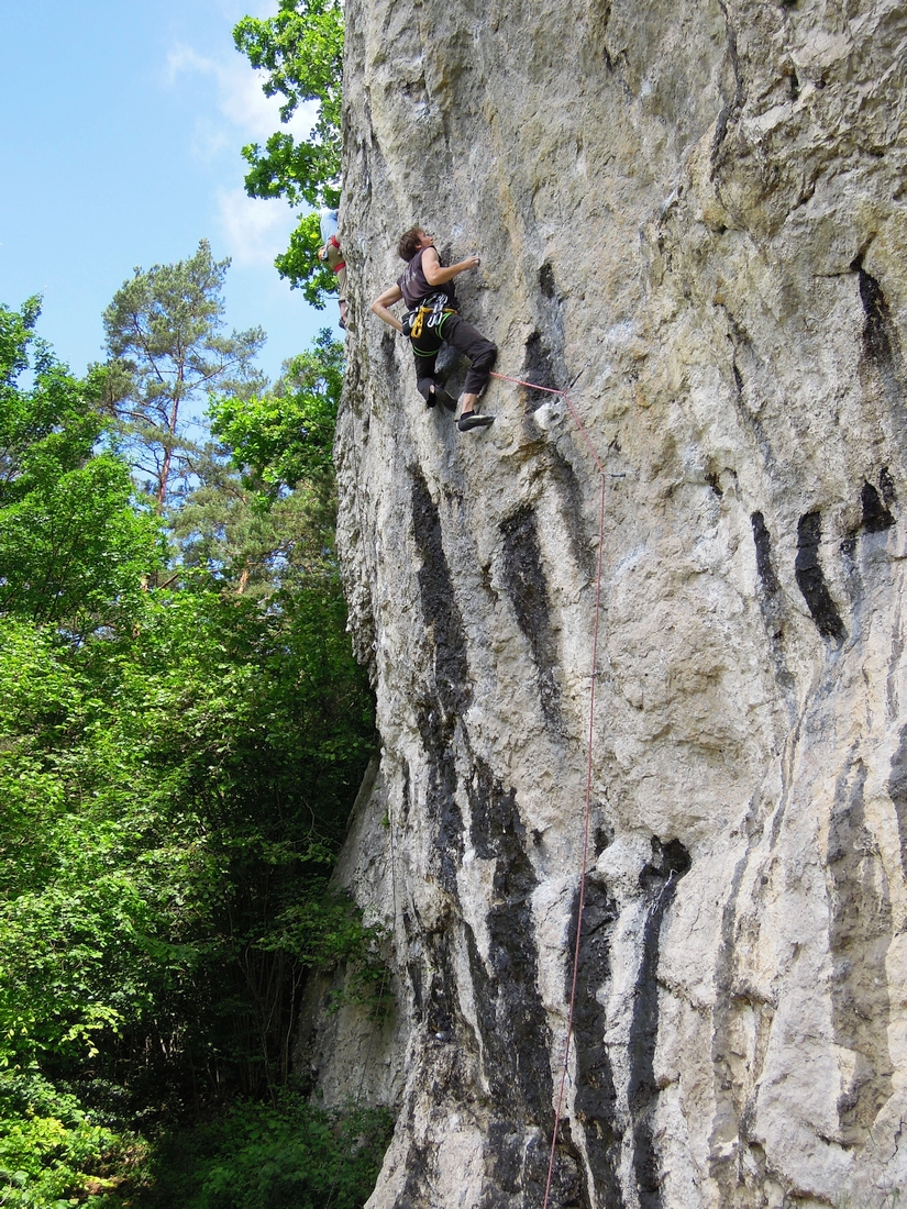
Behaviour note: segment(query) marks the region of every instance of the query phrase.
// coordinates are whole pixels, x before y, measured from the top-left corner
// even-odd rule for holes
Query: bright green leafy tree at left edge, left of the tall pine
[[[76,381],[37,316],[34,299],[0,307],[0,615],[83,632],[135,607],[156,526],[132,507],[128,467],[96,452],[104,374]]]

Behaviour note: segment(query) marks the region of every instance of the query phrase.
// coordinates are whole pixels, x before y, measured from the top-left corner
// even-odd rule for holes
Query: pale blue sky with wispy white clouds
[[[44,296],[40,335],[81,374],[104,357],[102,312],[135,266],[230,256],[226,322],[260,324],[281,361],[334,325],[277,276],[294,216],[245,197],[245,143],[278,102],[233,47],[276,0],[0,0],[0,302]],[[308,115],[289,127],[306,133]]]

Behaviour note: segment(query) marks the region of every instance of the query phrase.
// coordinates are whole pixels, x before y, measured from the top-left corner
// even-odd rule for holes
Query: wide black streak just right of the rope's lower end
[[[570,953],[576,951],[576,918],[570,936]],[[605,1043],[607,1012],[596,993],[611,979],[611,938],[619,910],[607,887],[589,880],[585,889],[583,931],[579,941],[577,1000],[573,1012],[573,1036],[577,1063],[577,1089],[573,1100],[582,1122],[585,1150],[595,1184],[593,1204],[623,1209],[624,1198],[618,1179],[622,1133],[617,1124],[614,1076],[611,1054]],[[572,978],[572,966],[568,979]],[[570,996],[570,984],[566,988]]]

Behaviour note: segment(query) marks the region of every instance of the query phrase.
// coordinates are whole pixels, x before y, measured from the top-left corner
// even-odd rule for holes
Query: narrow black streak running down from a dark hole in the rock
[[[630,1078],[628,1101],[632,1120],[632,1169],[640,1209],[660,1209],[662,1192],[653,1115],[655,1042],[658,1041],[658,959],[662,922],[674,899],[677,883],[689,869],[689,854],[680,840],[663,844],[652,838],[652,861],[640,874],[647,909],[642,930],[642,961],[636,977],[630,1025]]]

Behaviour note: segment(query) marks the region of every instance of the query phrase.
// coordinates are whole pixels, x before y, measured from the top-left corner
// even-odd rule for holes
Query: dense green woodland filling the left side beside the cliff
[[[161,521],[99,445],[105,372],[73,380],[35,316],[0,312],[0,586],[30,540],[7,521],[40,497],[80,534],[53,595],[80,603],[0,597],[0,1204],[354,1209],[386,1121],[290,1091],[308,971],[352,964],[368,989],[380,942],[329,886],[374,748],[331,555],[340,353],[325,339],[288,365],[283,412],[267,392],[244,400],[260,435],[242,392],[224,395],[241,447],[212,453],[181,511],[171,496],[183,561],[143,590]],[[85,481],[119,511],[75,487],[98,463],[110,480]],[[236,493],[245,530],[216,519]],[[29,515],[40,531],[56,514]]]

